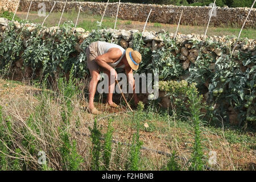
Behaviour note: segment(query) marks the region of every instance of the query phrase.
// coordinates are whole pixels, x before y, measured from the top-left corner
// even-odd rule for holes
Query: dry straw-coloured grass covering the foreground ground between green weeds
[[[85,85],[85,84],[81,84]],[[83,89],[82,89],[83,90]],[[26,130],[35,140],[28,141],[29,144],[35,146],[35,151],[46,151],[48,167],[51,169],[63,169],[61,163],[61,154],[59,148],[61,146],[61,133],[59,128],[62,127],[61,113],[63,107],[60,105],[61,97],[55,92],[51,97],[45,94],[51,90],[45,91],[37,89],[26,84],[15,81],[0,80],[0,105],[2,106],[4,118],[10,118],[13,124],[13,136],[10,142],[22,151],[22,154],[16,154],[14,148],[10,149],[10,154],[16,154],[16,158],[26,160],[29,163],[27,169],[40,169],[38,164],[38,156],[32,155],[28,152],[20,140],[24,137],[22,131]],[[118,148],[117,143],[113,143],[113,154],[110,162],[112,170],[122,170],[125,168],[127,162],[127,155],[129,153],[129,143],[133,133],[135,133],[133,115],[125,109],[116,113],[117,110],[110,110],[104,104],[106,113],[94,116],[86,111],[85,94],[81,94],[77,98],[72,99],[73,113],[71,114],[70,124],[65,128],[71,134],[71,139],[77,142],[77,151],[84,159],[81,169],[90,170],[90,162],[92,155],[90,153],[92,143],[90,142],[90,131],[88,127],[93,127],[94,119],[97,119],[102,133],[106,133],[109,118],[113,118],[113,139],[118,142],[126,143]],[[83,107],[85,106],[85,107]],[[67,108],[66,108],[67,109]],[[65,110],[67,112],[67,110]],[[28,126],[28,118],[31,117],[33,125],[38,129],[31,130]],[[151,150],[164,151],[171,153],[176,150],[180,156],[181,166],[184,166],[191,155],[191,147],[193,142],[193,129],[189,120],[182,122],[175,117],[175,115],[159,115],[156,113],[144,113],[140,116],[139,122],[142,127],[139,131],[143,146],[150,150],[142,150],[141,155],[141,169],[144,170],[160,170],[168,160],[165,155],[156,154]],[[150,130],[143,127],[144,122],[150,126]],[[248,141],[232,143],[226,139],[227,134],[225,128],[212,129],[211,127],[203,127],[204,154],[208,156],[209,151],[217,152],[217,164],[212,166],[214,169],[221,170],[254,170],[255,167],[255,135],[250,137],[250,134],[243,134],[242,137],[247,137]],[[237,138],[240,135],[236,135]],[[3,142],[3,141],[0,141]],[[253,144],[254,143],[254,144]],[[127,145],[128,144],[128,145]],[[254,145],[254,149],[251,145]],[[121,160],[120,166],[115,164],[117,157],[117,150],[119,150],[119,158]],[[103,164],[102,164],[103,165]]]

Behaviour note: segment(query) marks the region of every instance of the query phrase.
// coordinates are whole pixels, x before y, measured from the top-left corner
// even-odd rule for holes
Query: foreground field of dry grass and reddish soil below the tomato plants
[[[94,119],[97,120],[102,136],[107,133],[110,125],[109,121],[112,121],[113,140],[115,140],[115,143],[112,144],[113,151],[108,169],[131,169],[126,167],[126,164],[129,164],[130,161],[130,158],[126,156],[130,156],[131,147],[129,147],[129,144],[133,142],[133,135],[137,133],[137,130],[139,140],[143,142],[143,147],[146,148],[146,150],[145,148],[141,150],[137,169],[166,169],[170,156],[160,155],[154,151],[162,151],[168,154],[176,151],[175,160],[177,160],[177,165],[181,166],[181,170],[188,169],[186,165],[188,165],[191,151],[193,151],[194,140],[191,118],[180,117],[176,113],[170,115],[164,110],[158,110],[158,112],[150,111],[150,108],[143,113],[136,111],[135,114],[127,111],[124,106],[122,106],[123,109],[117,111],[106,107],[100,100],[96,100],[97,107],[102,108],[105,113],[94,117],[86,111],[86,98],[83,101],[83,95],[80,94],[77,98],[72,98],[71,100],[73,110],[69,115],[70,123],[68,124],[63,123],[63,118],[61,118],[63,111],[68,111],[68,106],[61,101],[63,100],[63,95],[61,96],[60,93],[41,89],[38,86],[28,86],[17,81],[0,80],[0,88],[3,121],[6,124],[10,123],[9,130],[4,134],[9,134],[7,136],[9,142],[13,142],[13,146],[20,148],[19,152],[13,148],[9,151],[9,155],[16,154],[17,159],[19,159],[16,161],[16,166],[11,165],[14,160],[7,156],[8,165],[1,166],[2,169],[10,169],[10,166],[16,167],[15,169],[93,169],[95,167],[92,162],[94,160],[92,154],[93,146],[88,128],[93,127]],[[66,114],[68,115],[68,113]],[[32,123],[30,122],[31,119]],[[145,127],[145,123],[147,123],[148,127]],[[63,135],[57,130],[61,125],[68,125],[65,132],[68,133],[69,139],[77,144],[77,151],[73,151],[72,146],[70,146],[68,150],[71,151],[70,154],[69,152],[66,154],[67,156],[61,154],[61,147],[65,144]],[[245,132],[225,124],[222,126],[207,124],[203,125],[201,130],[202,138],[204,139],[202,142],[204,160],[209,159],[210,151],[216,151],[217,153],[217,164],[209,166],[208,162],[206,162],[209,169],[255,169],[255,133],[253,131]],[[51,132],[49,133],[49,131]],[[17,137],[20,140],[16,140],[15,138]],[[102,141],[101,146],[103,145]],[[38,150],[46,151],[47,167],[40,167],[37,164],[37,159],[34,158],[35,154],[33,152]],[[75,159],[71,155],[75,154],[81,155],[84,162],[73,161]],[[3,159],[2,154],[1,157]],[[63,163],[59,158],[72,159],[68,159]],[[99,166],[102,168],[105,167],[105,163],[101,158]],[[116,162],[117,160],[118,162]],[[77,167],[67,164],[71,161],[76,163]]]

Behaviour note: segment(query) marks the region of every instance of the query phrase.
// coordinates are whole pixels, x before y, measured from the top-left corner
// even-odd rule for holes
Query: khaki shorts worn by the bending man
[[[86,48],[86,61],[87,61],[87,68],[90,71],[103,71],[103,68],[101,68],[95,61],[95,58],[98,56],[98,42],[91,43]]]

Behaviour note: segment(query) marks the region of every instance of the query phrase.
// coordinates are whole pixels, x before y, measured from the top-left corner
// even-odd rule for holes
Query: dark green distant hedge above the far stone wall
[[[83,0],[82,0],[83,1]],[[94,2],[107,2],[108,0],[84,0]],[[109,2],[118,2],[119,0],[110,0]],[[254,0],[216,0],[216,5],[223,7],[251,7]],[[121,2],[159,4],[159,5],[183,5],[183,6],[209,6],[214,0],[121,0]],[[256,5],[254,5],[256,8]]]

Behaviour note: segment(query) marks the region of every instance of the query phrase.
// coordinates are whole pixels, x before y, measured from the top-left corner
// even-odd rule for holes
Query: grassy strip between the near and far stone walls
[[[21,19],[26,19],[27,13],[24,12],[18,12],[17,16]],[[57,26],[59,23],[61,13],[52,13],[47,18],[47,21],[45,23],[45,26],[52,27]],[[76,22],[77,19],[77,12],[72,11],[71,13],[64,13],[63,14],[63,22],[67,20],[71,20],[72,22]],[[44,17],[39,17],[36,12],[31,12],[28,16],[28,20],[30,20],[32,23],[40,23],[42,24]],[[80,18],[78,21],[78,27],[84,28],[86,31],[91,31],[93,29],[97,28],[97,21],[100,22],[101,16],[99,15],[93,15],[90,13],[81,13]],[[103,20],[103,25],[106,28],[114,28],[114,22],[115,18],[111,17],[105,17]],[[121,20],[118,19],[117,21],[117,29],[122,30],[131,30],[131,29],[137,29],[139,31],[142,31],[144,27],[143,22],[135,22],[131,20]],[[146,31],[160,31],[165,30],[168,32],[176,32],[177,25],[174,24],[162,24],[162,23],[148,23],[146,27]],[[241,27],[234,27],[234,26],[227,26],[223,25],[223,27],[209,27],[208,29],[208,36],[223,36],[223,35],[238,35],[240,32]],[[186,25],[180,25],[179,27],[179,33],[180,34],[204,34],[205,32],[205,26],[186,26]],[[256,30],[254,28],[246,28],[243,30],[241,34],[241,38],[249,38],[249,39],[255,39]]]

